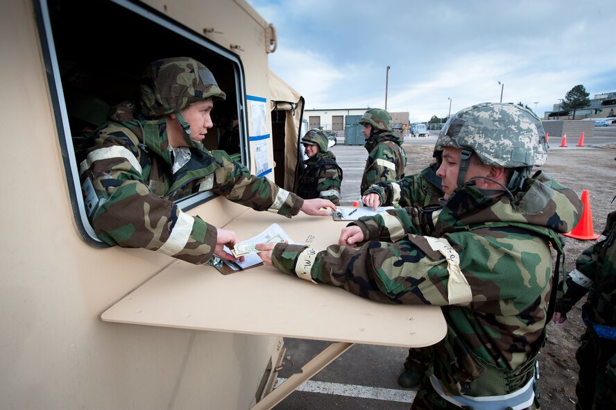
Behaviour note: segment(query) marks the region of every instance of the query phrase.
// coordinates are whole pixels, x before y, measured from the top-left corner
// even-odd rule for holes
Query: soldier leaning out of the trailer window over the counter
[[[207,151],[201,141],[212,127],[213,101],[224,99],[212,72],[192,58],[152,62],[141,79],[141,114],[131,108],[103,124],[80,164],[92,226],[101,241],[146,248],[194,264],[236,241],[234,232],[216,229],[182,212],[173,200],[211,190],[255,210],[291,217],[300,210],[327,215],[329,200],[303,200],[257,178],[224,151]],[[131,118],[132,121],[128,121]]]

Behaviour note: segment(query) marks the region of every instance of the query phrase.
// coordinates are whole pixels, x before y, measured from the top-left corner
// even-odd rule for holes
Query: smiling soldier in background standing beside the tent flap
[[[327,135],[323,131],[309,130],[302,137],[308,159],[300,176],[298,196],[304,199],[324,198],[338,205],[342,169],[336,163],[336,155],[327,151]]]

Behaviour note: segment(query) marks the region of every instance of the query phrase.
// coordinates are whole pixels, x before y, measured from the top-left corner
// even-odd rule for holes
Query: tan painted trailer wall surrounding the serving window
[[[223,30],[228,42],[263,37],[236,3],[216,2],[216,18],[201,11],[202,1],[183,3],[191,8],[174,2],[169,15],[195,30],[209,19],[229,27]],[[0,44],[0,407],[250,407],[277,338],[100,320],[173,259],[147,250],[95,249],[80,239],[30,1],[3,3]],[[248,44],[243,49],[247,92],[266,96],[266,55]],[[241,209],[217,198],[191,213],[221,226]],[[203,274],[217,273],[204,267]]]

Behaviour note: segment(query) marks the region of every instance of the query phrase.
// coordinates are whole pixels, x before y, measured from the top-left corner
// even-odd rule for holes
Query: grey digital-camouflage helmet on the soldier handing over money
[[[470,148],[484,164],[504,168],[540,166],[547,160],[541,120],[512,103],[482,103],[460,110],[440,131],[435,153],[445,146]]]

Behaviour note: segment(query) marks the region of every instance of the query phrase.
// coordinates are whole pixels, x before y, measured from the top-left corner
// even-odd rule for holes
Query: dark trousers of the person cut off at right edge
[[[588,330],[575,354],[580,374],[575,388],[578,410],[613,409],[616,403],[616,341]]]

